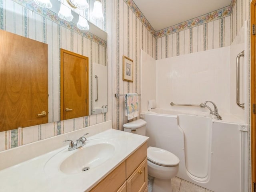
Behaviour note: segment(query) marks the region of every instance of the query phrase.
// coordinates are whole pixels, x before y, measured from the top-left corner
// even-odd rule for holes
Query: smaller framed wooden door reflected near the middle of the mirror
[[[61,120],[89,115],[88,57],[61,49]]]

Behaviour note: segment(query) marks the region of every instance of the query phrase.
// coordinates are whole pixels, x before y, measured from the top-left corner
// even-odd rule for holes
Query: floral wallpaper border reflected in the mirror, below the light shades
[[[99,38],[98,36],[84,30],[80,30],[77,28],[76,25],[74,25],[71,22],[67,22],[65,20],[62,20],[58,17],[58,15],[46,8],[39,7],[35,2],[32,2],[30,0],[12,0],[13,2],[16,2],[18,4],[21,4],[22,6],[28,8],[29,10],[36,12],[37,14],[40,14],[44,16],[45,18],[51,20],[52,22],[55,22],[65,28],[68,28],[69,30],[76,32],[77,34],[80,34],[104,47],[107,47],[107,42]]]

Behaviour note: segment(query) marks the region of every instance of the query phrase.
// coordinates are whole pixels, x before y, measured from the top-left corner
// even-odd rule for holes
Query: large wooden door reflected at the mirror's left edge
[[[47,44],[0,30],[0,102],[0,131],[48,123]]]

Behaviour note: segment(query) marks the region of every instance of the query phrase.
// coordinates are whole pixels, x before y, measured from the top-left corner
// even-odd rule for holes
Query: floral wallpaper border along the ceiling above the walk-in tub
[[[192,28],[201,24],[205,24],[207,22],[211,22],[214,20],[218,20],[218,19],[230,16],[232,13],[233,7],[236,4],[236,0],[232,0],[230,3],[230,6],[226,6],[214,12],[210,12],[208,14],[199,16],[197,18],[176,24],[174,26],[170,26],[168,28],[165,28],[159,31],[155,31],[154,28],[150,25],[150,23],[146,19],[146,17],[142,14],[140,9],[136,6],[136,4],[132,0],[124,0],[124,2],[126,2],[128,7],[134,12],[136,17],[142,22],[142,24],[148,29],[148,31],[151,32],[151,34],[155,38],[161,38],[166,35],[170,35],[182,30],[186,30],[188,28]]]

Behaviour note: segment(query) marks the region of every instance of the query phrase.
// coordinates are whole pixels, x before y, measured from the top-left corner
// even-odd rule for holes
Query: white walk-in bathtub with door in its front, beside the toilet
[[[206,137],[207,140],[203,141],[206,145],[208,144],[208,146],[202,149],[205,150],[204,152],[208,152],[207,157],[204,158],[204,160],[206,160],[205,162],[207,162],[208,158],[208,162],[206,163],[208,164],[206,166],[208,169],[207,173],[203,172],[202,170],[205,169],[202,168],[200,172],[206,173],[205,175],[196,173],[198,170],[193,170],[193,167],[191,170],[188,170],[190,166],[187,167],[186,156],[190,156],[188,160],[189,158],[193,158],[193,156],[196,159],[198,151],[194,150],[194,153],[191,152],[191,148],[189,148],[191,146],[186,147],[186,142],[192,142],[192,146],[196,146],[198,142],[202,142],[202,140],[200,140],[201,133],[199,129],[194,132],[199,135],[199,139],[195,139],[194,141],[187,139],[187,137],[190,137],[189,139],[193,137],[192,132],[188,133],[186,129],[182,129],[182,127],[184,127],[183,121],[189,120],[187,117],[190,116],[183,115],[179,117],[177,114],[153,114],[152,112],[145,112],[142,116],[147,122],[146,136],[150,137],[148,145],[168,150],[180,159],[180,168],[177,177],[216,192],[248,191],[248,167],[246,166],[248,134],[246,126],[245,129],[243,129],[244,125],[241,126],[241,124],[238,123],[210,119],[209,132],[205,132],[209,137]],[[178,120],[178,118],[180,119]],[[193,118],[193,116],[191,118]],[[194,118],[198,118],[198,116],[194,116]],[[208,119],[207,117],[202,118]],[[207,121],[208,120],[206,120],[206,122]],[[188,153],[186,150],[188,150]],[[202,160],[198,161],[199,162],[193,162],[193,160],[189,160],[189,162],[194,164],[202,163]],[[198,166],[200,165],[198,164]],[[197,176],[195,176],[195,173]],[[199,178],[198,176],[200,175],[204,177]]]

